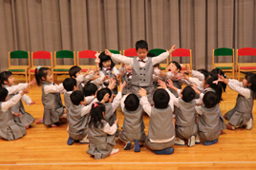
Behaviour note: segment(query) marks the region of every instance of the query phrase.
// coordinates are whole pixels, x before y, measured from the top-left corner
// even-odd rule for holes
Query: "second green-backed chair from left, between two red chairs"
[[[74,59],[74,65],[58,65],[57,59],[70,58]],[[57,74],[69,74],[69,70],[72,66],[75,66],[75,51],[71,50],[59,50],[54,51],[54,64],[53,67],[53,78],[57,81]]]

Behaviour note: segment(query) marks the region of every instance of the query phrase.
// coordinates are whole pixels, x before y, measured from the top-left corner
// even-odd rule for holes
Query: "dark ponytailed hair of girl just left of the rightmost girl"
[[[219,82],[217,85],[213,84],[214,81],[218,80],[218,76],[209,73],[209,76],[204,79],[206,81],[206,84],[209,85],[212,89],[215,90],[215,93],[219,97],[218,104],[223,101],[222,95],[223,95],[223,85]]]

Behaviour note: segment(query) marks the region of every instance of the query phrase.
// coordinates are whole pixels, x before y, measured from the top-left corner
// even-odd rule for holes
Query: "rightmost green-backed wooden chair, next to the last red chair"
[[[215,62],[214,58],[218,56],[231,56],[232,58],[232,63],[217,63]],[[228,48],[228,47],[220,47],[217,49],[213,49],[212,53],[212,69],[213,68],[220,68],[224,72],[232,72],[233,79],[235,77],[235,54],[234,54],[234,49]]]

